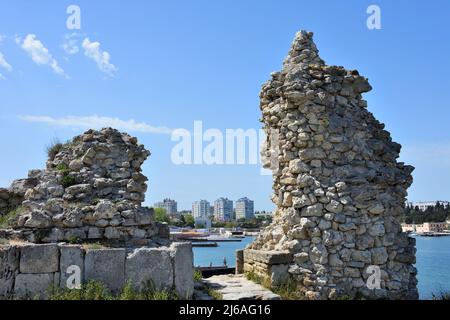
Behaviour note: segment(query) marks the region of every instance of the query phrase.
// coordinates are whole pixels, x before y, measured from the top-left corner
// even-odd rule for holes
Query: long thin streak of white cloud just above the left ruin
[[[63,118],[53,118],[49,116],[20,116],[21,120],[32,123],[46,123],[54,126],[73,127],[83,129],[101,129],[113,127],[124,131],[171,134],[173,129],[167,127],[155,127],[145,122],[136,122],[134,119],[121,120],[119,118],[101,117],[98,115],[77,117],[67,116]]]

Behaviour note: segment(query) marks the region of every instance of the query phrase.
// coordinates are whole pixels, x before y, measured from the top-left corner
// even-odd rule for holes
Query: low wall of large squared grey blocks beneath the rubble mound
[[[190,243],[134,249],[0,245],[0,300],[46,299],[51,289],[73,284],[73,267],[78,267],[81,283],[97,281],[114,294],[129,283],[142,290],[151,282],[158,290],[174,290],[180,299],[189,299],[194,291],[192,266]]]

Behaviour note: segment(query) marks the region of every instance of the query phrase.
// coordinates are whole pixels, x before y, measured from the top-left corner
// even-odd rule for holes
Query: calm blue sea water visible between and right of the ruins
[[[431,299],[433,293],[450,291],[450,237],[416,237],[419,294],[421,299]],[[219,242],[217,248],[194,248],[196,266],[235,266],[235,252],[253,241],[252,237],[242,242]]]

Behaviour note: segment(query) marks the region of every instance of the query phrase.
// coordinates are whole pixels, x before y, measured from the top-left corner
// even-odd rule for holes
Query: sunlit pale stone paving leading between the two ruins
[[[223,300],[281,300],[272,291],[247,280],[244,275],[222,275],[203,279],[203,285],[217,291]]]

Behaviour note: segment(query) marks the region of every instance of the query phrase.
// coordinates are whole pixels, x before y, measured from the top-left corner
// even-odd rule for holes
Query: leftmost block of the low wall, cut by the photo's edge
[[[19,249],[0,247],[0,300],[13,293],[14,279],[19,270]]]

